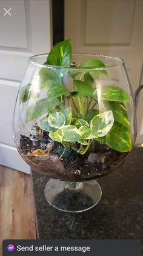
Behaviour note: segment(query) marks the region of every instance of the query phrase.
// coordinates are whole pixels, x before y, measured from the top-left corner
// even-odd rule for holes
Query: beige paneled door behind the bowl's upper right
[[[124,59],[133,92],[138,88],[143,58],[142,0],[65,0],[67,38],[71,38],[73,52]],[[143,123],[142,107],[138,115]],[[143,134],[143,126],[139,133]]]

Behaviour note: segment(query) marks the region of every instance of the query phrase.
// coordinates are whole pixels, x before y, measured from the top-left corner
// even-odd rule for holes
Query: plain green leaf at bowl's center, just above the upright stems
[[[87,84],[81,80],[75,80],[75,85],[78,91],[78,94],[75,96],[84,96],[84,97],[90,96],[91,98],[95,97],[96,89],[91,87],[90,84]]]

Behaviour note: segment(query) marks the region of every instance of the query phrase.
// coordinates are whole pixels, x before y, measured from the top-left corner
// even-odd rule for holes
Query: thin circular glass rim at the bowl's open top
[[[71,55],[73,56],[91,56],[91,57],[102,57],[105,59],[113,59],[114,61],[117,61],[118,64],[111,64],[105,67],[96,67],[96,68],[92,68],[92,67],[63,67],[63,66],[53,66],[53,65],[46,65],[46,64],[41,64],[37,61],[34,61],[33,59],[35,58],[39,58],[42,56],[48,56],[48,53],[42,53],[42,54],[38,54],[38,55],[33,55],[28,59],[28,62],[30,62],[31,64],[35,65],[35,66],[39,66],[39,67],[47,67],[49,69],[64,69],[64,70],[105,70],[105,69],[109,69],[109,68],[113,68],[113,67],[122,67],[125,64],[125,61],[122,58],[119,57],[114,57],[114,56],[108,56],[108,55],[103,55],[103,54],[98,54],[98,53],[72,53]],[[71,61],[72,63],[72,61]]]

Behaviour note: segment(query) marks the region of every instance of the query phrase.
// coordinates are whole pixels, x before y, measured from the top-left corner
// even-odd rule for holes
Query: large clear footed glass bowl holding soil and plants
[[[101,198],[95,179],[118,167],[135,144],[130,81],[120,58],[73,54],[70,67],[44,65],[46,58],[31,57],[22,79],[15,144],[33,170],[52,178],[45,186],[50,204],[86,211]]]

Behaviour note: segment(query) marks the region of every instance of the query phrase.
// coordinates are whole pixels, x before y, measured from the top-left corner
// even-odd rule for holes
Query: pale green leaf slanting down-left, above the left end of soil
[[[25,122],[28,123],[32,120],[35,120],[41,115],[48,113],[49,110],[53,109],[53,107],[58,106],[59,99],[54,98],[52,101],[48,100],[48,98],[40,99],[36,101],[36,103],[32,104],[28,107],[26,112]]]

